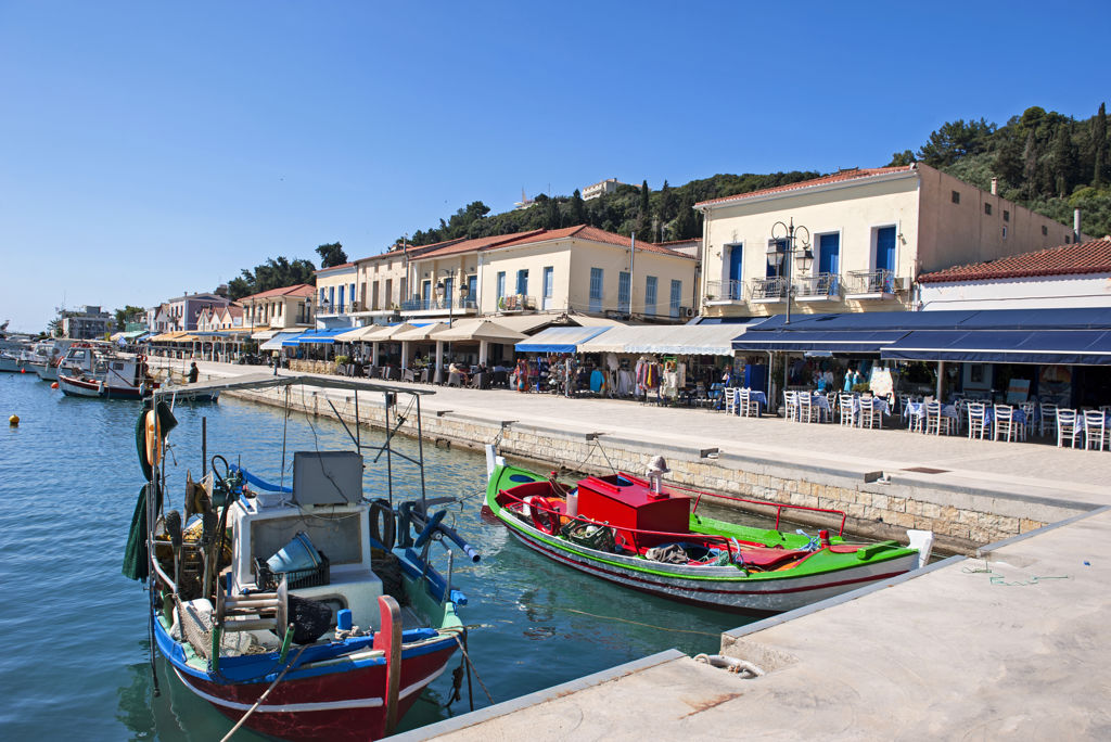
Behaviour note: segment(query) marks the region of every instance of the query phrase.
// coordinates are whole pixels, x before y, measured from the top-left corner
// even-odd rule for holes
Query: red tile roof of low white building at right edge
[[[933,273],[923,273],[918,280],[921,283],[943,283],[1077,273],[1111,273],[1111,238],[1062,244],[983,263],[955,265]]]

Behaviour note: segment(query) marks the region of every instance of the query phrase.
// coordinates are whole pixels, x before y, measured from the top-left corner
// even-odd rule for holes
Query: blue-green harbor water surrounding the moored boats
[[[134,451],[138,402],[73,399],[32,374],[0,374],[0,412],[21,422],[0,435],[0,730],[9,740],[212,740],[232,723],[157,662],[153,695],[147,595],[120,573],[142,474]],[[230,398],[178,405],[168,472],[201,470],[200,430],[221,454],[263,479],[281,478],[280,410]],[[289,419],[288,450],[350,449],[343,427],[323,417]],[[362,431],[363,443],[381,434]],[[417,442],[397,441],[406,453]],[[631,592],[534,554],[480,515],[484,459],[424,445],[428,497],[460,497],[447,522],[481,553],[454,560],[453,584],[469,604],[469,650],[478,672],[474,708],[549,688],[669,648],[714,652],[719,634],[747,620]],[[367,454],[364,493],[386,497],[384,460]],[[416,470],[393,461],[394,498],[419,497]],[[289,483],[292,455],[287,457]],[[181,492],[171,489],[180,507]],[[447,564],[440,550],[439,563]],[[452,660],[453,669],[459,655]],[[169,674],[168,674],[169,672]],[[408,730],[470,709],[448,704],[446,672],[402,720]],[[261,739],[240,730],[236,739]]]

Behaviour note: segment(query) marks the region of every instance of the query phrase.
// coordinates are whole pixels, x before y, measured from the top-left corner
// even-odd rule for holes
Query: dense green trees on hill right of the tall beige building
[[[979,121],[942,124],[912,153],[898,152],[890,164],[920,160],[988,190],[999,178],[999,194],[1072,223],[1093,237],[1111,233],[1111,162],[1107,107],[1077,121],[1055,111],[1028,108],[1002,127]]]

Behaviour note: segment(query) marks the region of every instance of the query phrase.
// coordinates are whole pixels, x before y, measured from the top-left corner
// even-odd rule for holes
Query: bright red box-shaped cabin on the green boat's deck
[[[690,498],[671,494],[665,488],[657,495],[647,480],[624,472],[580,480],[579,515],[609,523],[617,530],[618,540],[634,549],[675,540],[668,534],[690,533]],[[628,529],[663,534],[633,533]]]

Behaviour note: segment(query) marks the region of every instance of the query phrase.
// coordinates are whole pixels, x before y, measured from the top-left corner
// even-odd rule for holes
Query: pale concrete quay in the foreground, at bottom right
[[[399,740],[1107,740],[1111,512]]]

